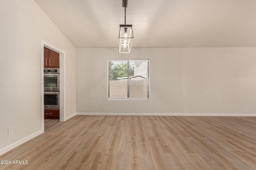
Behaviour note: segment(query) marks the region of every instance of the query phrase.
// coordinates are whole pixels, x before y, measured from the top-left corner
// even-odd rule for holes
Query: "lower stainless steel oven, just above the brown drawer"
[[[60,109],[60,92],[44,92],[44,109]]]

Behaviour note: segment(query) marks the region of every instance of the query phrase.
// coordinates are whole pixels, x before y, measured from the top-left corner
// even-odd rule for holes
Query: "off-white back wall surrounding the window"
[[[107,60],[128,58],[150,59],[149,100],[107,100]],[[77,113],[256,115],[255,103],[256,48],[76,49]]]

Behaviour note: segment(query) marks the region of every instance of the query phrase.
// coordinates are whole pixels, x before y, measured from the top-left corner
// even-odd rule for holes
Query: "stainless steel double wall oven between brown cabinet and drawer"
[[[60,109],[59,68],[44,68],[44,109]]]

